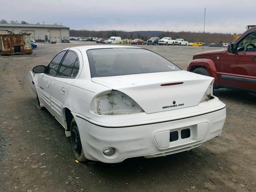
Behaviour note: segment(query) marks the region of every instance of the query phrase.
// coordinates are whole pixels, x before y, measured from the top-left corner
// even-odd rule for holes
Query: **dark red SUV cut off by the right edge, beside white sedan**
[[[227,49],[198,53],[188,71],[214,77],[213,88],[256,93],[256,27],[246,30]]]

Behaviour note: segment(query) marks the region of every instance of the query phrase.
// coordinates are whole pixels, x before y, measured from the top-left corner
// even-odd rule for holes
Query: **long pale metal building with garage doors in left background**
[[[31,40],[36,42],[62,42],[64,37],[69,38],[69,27],[63,25],[40,24],[0,24],[0,34],[7,34],[6,30],[15,34],[19,32],[31,33]]]

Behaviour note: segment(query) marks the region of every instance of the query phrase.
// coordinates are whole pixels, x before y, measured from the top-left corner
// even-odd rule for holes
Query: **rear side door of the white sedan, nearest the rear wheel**
[[[76,52],[68,50],[64,56],[57,75],[52,79],[51,108],[57,120],[64,125],[63,105],[72,83],[76,80],[79,71],[79,58]]]

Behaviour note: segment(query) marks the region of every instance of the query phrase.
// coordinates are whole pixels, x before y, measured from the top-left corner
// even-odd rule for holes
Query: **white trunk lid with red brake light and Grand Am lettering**
[[[146,113],[196,106],[212,80],[187,71],[92,78],[92,82],[127,94]]]

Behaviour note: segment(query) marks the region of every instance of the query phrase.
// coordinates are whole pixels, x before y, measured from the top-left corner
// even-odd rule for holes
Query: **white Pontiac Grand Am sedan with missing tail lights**
[[[28,76],[38,108],[65,128],[76,159],[117,163],[196,148],[222,134],[214,78],[132,46],[79,46]]]

